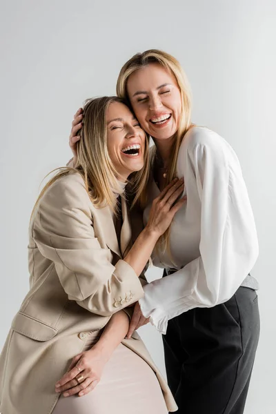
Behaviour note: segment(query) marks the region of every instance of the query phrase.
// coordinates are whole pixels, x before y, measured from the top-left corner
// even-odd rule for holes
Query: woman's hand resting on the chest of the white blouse
[[[184,190],[184,178],[173,179],[168,186],[152,201],[146,228],[151,232],[163,235],[170,226],[172,219],[183,206],[187,197],[179,199]]]

